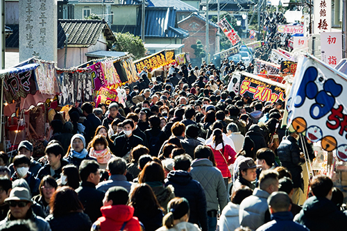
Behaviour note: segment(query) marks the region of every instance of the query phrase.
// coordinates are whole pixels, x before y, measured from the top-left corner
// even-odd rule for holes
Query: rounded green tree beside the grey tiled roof
[[[116,42],[112,44],[113,51],[124,51],[132,53],[135,59],[144,57],[146,49],[139,36],[130,33],[115,33]]]

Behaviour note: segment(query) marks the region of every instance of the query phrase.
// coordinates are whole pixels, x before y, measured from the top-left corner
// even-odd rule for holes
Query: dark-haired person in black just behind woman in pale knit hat
[[[93,113],[93,105],[91,103],[83,103],[81,109],[86,117],[83,122],[83,126],[85,126],[85,142],[89,144],[95,135],[96,128],[101,125],[101,120]]]

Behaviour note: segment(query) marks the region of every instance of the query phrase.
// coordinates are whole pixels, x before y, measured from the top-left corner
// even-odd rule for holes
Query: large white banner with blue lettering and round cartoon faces
[[[287,101],[287,123],[325,151],[347,160],[347,76],[312,55],[298,62]]]

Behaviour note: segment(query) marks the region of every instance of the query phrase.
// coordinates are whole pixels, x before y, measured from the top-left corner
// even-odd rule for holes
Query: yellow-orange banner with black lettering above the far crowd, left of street
[[[165,50],[149,55],[145,58],[136,60],[134,62],[137,73],[140,73],[144,67],[147,67],[149,71],[158,69],[165,65],[169,65],[175,61],[175,50]]]

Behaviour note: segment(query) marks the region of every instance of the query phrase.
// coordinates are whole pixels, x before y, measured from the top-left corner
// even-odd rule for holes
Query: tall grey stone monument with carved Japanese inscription
[[[19,1],[19,61],[57,61],[57,0]]]

